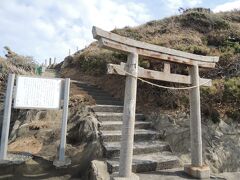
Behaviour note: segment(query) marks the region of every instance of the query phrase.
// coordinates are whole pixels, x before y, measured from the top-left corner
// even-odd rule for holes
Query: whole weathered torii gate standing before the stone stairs
[[[209,167],[204,166],[202,160],[200,85],[211,86],[211,80],[199,77],[199,67],[214,68],[219,57],[201,56],[152,45],[104,31],[95,26],[92,29],[92,33],[93,37],[98,40],[101,47],[128,54],[126,64],[108,65],[108,73],[127,76],[124,97],[119,177],[116,177],[115,179],[138,179],[138,177],[132,173],[137,77],[182,83],[192,86],[192,88],[189,88],[191,165],[186,165],[184,170],[188,174],[197,178],[209,178]],[[163,72],[138,67],[139,56],[164,61]],[[188,65],[190,75],[187,76],[171,73],[170,62]]]

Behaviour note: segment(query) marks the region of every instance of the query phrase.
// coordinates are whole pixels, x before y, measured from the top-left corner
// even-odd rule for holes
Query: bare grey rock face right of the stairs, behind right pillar
[[[189,115],[177,113],[166,115],[152,113],[149,121],[168,141],[182,164],[190,163]],[[202,119],[204,162],[212,173],[240,171],[240,127],[231,119],[221,120],[219,124]]]

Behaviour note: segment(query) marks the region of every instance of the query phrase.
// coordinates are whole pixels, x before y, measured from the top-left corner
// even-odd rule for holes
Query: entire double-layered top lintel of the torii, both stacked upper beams
[[[141,41],[136,41],[115,33],[104,31],[93,26],[93,37],[99,41],[101,47],[122,52],[136,52],[140,56],[150,57],[156,60],[164,60],[186,65],[198,65],[200,67],[214,68],[219,57],[201,56],[175,49],[157,46]]]

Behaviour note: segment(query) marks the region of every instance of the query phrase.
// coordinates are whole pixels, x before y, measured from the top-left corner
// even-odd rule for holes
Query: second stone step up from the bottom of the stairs
[[[103,143],[104,155],[106,158],[119,157],[120,142],[105,142]],[[133,154],[148,154],[161,151],[171,151],[168,143],[162,141],[142,141],[135,142],[133,145]]]

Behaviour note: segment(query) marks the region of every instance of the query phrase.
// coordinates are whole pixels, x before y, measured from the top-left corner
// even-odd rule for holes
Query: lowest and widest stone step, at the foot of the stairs
[[[107,160],[108,171],[110,173],[119,170],[119,158]],[[151,154],[140,154],[133,156],[133,172],[149,172],[163,169],[171,169],[179,166],[179,159],[171,152],[159,152]]]

